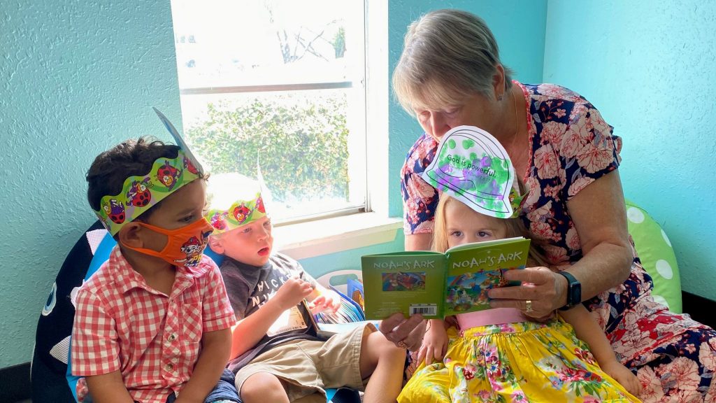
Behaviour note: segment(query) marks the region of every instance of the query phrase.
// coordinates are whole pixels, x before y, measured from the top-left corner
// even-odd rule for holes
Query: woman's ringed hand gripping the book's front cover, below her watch
[[[492,308],[517,308],[525,316],[539,319],[566,304],[566,280],[548,267],[508,270],[505,279],[521,281],[522,285],[490,290]]]

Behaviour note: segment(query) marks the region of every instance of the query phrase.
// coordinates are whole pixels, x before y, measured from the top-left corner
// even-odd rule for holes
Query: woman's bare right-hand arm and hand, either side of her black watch
[[[581,283],[581,297],[586,300],[624,282],[634,260],[619,173],[612,171],[596,179],[567,207],[584,254],[567,271]],[[525,313],[542,318],[566,305],[567,280],[547,267],[511,270],[505,272],[505,279],[528,284],[490,290],[493,308],[525,310],[525,301],[531,300],[532,310]]]

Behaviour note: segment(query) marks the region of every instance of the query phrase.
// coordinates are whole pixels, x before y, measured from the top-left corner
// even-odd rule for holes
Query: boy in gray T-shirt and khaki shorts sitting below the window
[[[331,338],[318,335],[311,310],[334,311],[340,296],[299,262],[272,254],[274,238],[260,186],[238,174],[212,176],[205,217],[237,324],[231,361],[244,403],[326,402],[326,388],[365,388],[364,401],[395,402],[405,350],[372,324]],[[304,303],[304,298],[311,301]]]

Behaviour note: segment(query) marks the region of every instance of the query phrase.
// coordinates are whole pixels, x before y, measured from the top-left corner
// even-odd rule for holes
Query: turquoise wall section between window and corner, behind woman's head
[[[547,3],[540,1],[426,1],[391,0],[388,8],[390,72],[402,52],[407,26],[422,14],[435,9],[471,11],[487,22],[500,47],[500,59],[515,70],[516,80],[541,82]],[[392,93],[391,93],[392,94]],[[390,215],[402,215],[400,168],[405,155],[422,129],[393,99],[390,103]]]

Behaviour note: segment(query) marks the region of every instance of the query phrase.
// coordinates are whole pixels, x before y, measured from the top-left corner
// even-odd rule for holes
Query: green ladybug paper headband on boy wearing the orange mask
[[[180,149],[175,158],[157,158],[147,174],[125,179],[119,194],[102,196],[100,210],[95,211],[95,214],[100,217],[112,236],[166,196],[203,174],[200,163],[194,158],[174,125],[159,110],[154,108],[154,111]]]

